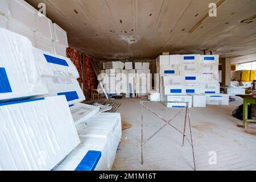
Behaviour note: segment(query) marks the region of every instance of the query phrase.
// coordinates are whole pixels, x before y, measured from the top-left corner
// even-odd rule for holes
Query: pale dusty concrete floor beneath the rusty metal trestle
[[[117,100],[122,105],[118,112],[122,121],[134,127],[124,130],[113,170],[193,170],[191,146],[181,147],[182,135],[166,126],[144,145],[144,164],[141,165],[141,99]],[[197,170],[256,170],[256,135],[237,127],[242,121],[232,117],[232,111],[241,100],[229,106],[191,108],[192,137]],[[147,104],[165,119],[179,109],[168,109],[163,104]],[[183,129],[184,112],[172,124]],[[150,111],[144,112],[144,136],[150,137],[164,124]],[[255,127],[255,125],[251,125]],[[188,130],[187,130],[188,131]],[[188,134],[188,133],[187,133]],[[209,152],[216,152],[217,164],[209,164]]]

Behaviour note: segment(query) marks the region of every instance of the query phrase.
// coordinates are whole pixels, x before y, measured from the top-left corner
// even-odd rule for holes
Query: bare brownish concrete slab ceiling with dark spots
[[[221,57],[256,53],[256,0],[26,1],[36,8],[46,3],[48,18],[67,31],[69,44],[96,59],[155,59],[162,52],[204,49]],[[216,17],[208,16],[212,2]]]

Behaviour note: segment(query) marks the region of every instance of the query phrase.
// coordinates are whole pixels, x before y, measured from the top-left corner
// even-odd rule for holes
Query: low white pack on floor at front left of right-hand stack
[[[183,102],[183,103],[167,103],[167,107],[180,107],[180,106],[188,106],[192,107],[192,96],[189,95],[174,95],[174,96],[166,96],[167,97],[167,102]]]

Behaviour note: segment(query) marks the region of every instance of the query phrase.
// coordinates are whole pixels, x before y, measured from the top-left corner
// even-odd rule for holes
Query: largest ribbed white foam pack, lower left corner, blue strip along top
[[[0,105],[1,170],[51,170],[79,143],[64,96]]]

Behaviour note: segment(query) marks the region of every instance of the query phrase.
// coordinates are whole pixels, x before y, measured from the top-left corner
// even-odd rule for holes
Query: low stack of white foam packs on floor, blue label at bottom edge
[[[110,171],[115,159],[115,153],[122,135],[121,116],[119,113],[100,113],[90,118],[86,125],[80,123],[77,125],[77,131],[80,136],[81,144],[60,163],[55,170],[74,171],[96,170]],[[97,165],[88,169],[86,167],[87,151],[101,152]],[[84,164],[81,161],[84,160]]]

